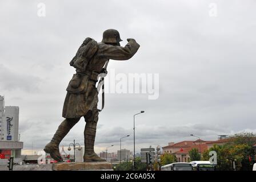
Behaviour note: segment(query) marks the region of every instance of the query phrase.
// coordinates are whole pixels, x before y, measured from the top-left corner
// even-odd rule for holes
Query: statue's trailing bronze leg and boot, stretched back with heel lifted
[[[47,154],[50,154],[51,158],[62,162],[63,159],[61,154],[59,154],[59,143],[61,140],[69,133],[70,129],[79,121],[80,118],[69,118],[62,121],[59,125],[57,131],[55,132],[53,139],[48,143],[43,149]]]

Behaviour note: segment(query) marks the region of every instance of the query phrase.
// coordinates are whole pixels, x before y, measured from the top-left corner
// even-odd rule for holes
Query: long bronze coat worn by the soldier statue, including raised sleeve
[[[98,50],[91,58],[86,67],[88,72],[100,73],[105,63],[109,59],[113,60],[128,60],[137,52],[139,44],[131,39],[125,47],[111,46],[105,43],[98,43]],[[74,75],[75,76],[75,75]],[[85,116],[87,111],[95,108],[98,102],[98,91],[95,88],[95,81],[91,81],[88,75],[82,78],[82,88],[85,88],[83,93],[66,94],[63,105],[62,117],[64,118],[80,118]]]

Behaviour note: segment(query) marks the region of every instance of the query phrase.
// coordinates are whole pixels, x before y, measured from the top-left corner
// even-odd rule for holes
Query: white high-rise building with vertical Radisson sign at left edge
[[[19,142],[19,107],[6,106],[0,96],[0,154],[1,158],[21,158],[23,142]]]

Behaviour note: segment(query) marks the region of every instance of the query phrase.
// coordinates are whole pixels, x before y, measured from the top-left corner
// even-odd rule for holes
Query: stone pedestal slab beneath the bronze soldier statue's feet
[[[70,170],[106,170],[111,171],[111,163],[107,162],[85,162],[85,163],[54,163],[52,166],[54,171],[70,171]]]

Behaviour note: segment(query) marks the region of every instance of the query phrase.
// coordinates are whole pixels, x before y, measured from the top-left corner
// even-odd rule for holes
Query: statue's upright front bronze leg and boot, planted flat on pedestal
[[[100,158],[94,152],[94,141],[96,135],[97,123],[86,122],[84,137],[85,137],[85,154],[83,155],[84,162],[103,162],[105,159]]]

